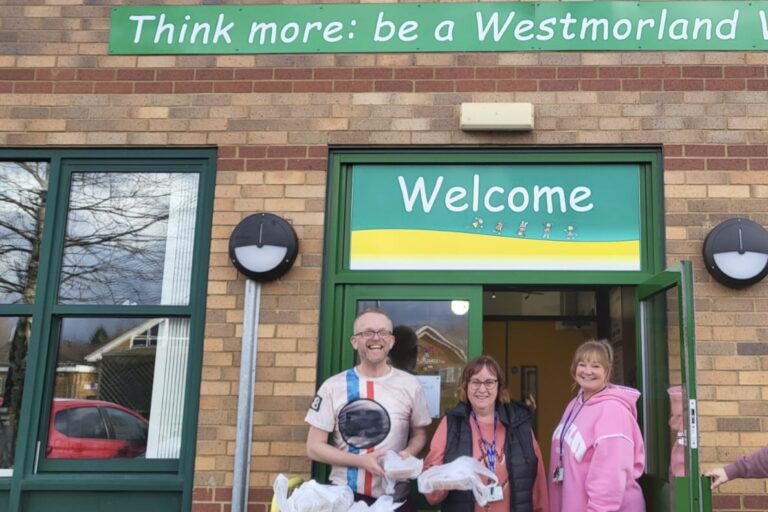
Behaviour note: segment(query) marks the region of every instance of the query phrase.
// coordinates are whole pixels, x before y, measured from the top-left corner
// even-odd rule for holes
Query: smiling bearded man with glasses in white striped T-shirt
[[[310,425],[307,455],[331,465],[331,483],[348,485],[356,501],[372,504],[384,493],[380,459],[388,450],[417,456],[432,418],[416,377],[388,362],[395,339],[384,311],[360,313],[350,341],[357,365],[326,380],[304,418]],[[395,487],[394,501],[404,502],[399,511],[416,510],[409,491],[408,481]]]

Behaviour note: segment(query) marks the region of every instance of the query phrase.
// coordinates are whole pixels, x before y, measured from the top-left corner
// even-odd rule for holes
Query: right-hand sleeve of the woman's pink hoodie
[[[608,419],[610,418],[610,419]],[[595,451],[586,477],[587,510],[619,510],[627,480],[632,478],[635,448],[631,441],[634,418],[623,406],[606,407],[595,428]]]

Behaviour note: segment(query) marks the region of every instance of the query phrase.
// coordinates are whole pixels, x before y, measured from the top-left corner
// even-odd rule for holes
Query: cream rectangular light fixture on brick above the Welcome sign
[[[464,131],[533,130],[533,103],[462,103]]]

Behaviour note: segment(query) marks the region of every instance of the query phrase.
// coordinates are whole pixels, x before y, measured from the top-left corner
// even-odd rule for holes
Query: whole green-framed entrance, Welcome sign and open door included
[[[430,390],[435,419],[463,364],[492,354],[512,395],[536,399],[548,450],[572,396],[573,351],[606,338],[614,380],[642,393],[648,509],[706,510],[691,266],[664,270],[661,162],[660,148],[333,150],[319,380],[354,364],[353,319],[377,305],[417,340],[405,367]],[[673,446],[682,476],[670,471]]]

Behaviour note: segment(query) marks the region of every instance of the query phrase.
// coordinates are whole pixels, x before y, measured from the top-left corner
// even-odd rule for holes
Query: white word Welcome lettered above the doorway
[[[413,187],[409,188],[403,176],[397,177],[400,185],[400,192],[403,199],[405,211],[411,213],[416,206],[419,206],[423,213],[429,213],[435,206],[438,197],[441,196],[443,182],[445,177],[438,176],[432,185],[431,190],[427,190],[427,184],[423,176],[419,176]],[[480,176],[478,174],[472,177],[471,188],[453,186],[442,193],[442,204],[446,210],[453,213],[460,213],[471,209],[472,212],[480,211],[481,200],[482,207],[491,213],[498,213],[505,208],[515,213],[521,213],[528,208],[534,212],[544,211],[551,214],[555,209],[561,213],[569,210],[577,213],[584,213],[592,210],[594,204],[587,202],[592,196],[592,190],[585,186],[576,186],[570,192],[565,191],[559,186],[541,186],[534,185],[529,190],[526,187],[511,187],[506,190],[498,185],[491,185],[483,190],[480,185]]]

